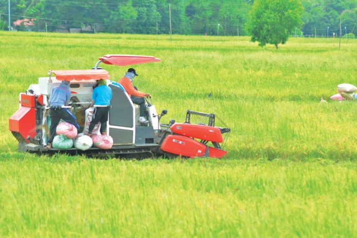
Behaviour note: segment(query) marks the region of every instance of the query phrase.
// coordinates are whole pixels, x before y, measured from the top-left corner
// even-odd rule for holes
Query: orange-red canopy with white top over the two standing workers
[[[57,80],[109,80],[110,76],[104,69],[84,69],[84,70],[52,70]]]

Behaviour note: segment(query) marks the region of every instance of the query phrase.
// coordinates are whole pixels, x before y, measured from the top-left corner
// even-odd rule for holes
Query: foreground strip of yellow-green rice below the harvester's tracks
[[[355,163],[3,159],[1,236],[344,236]]]

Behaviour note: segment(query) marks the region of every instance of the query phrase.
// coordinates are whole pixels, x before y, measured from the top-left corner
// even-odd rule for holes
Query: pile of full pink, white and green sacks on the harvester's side
[[[77,128],[67,122],[62,122],[56,127],[56,136],[53,138],[52,147],[56,149],[68,150],[74,147],[78,150],[88,150],[92,146],[100,149],[110,149],[113,146],[113,138],[109,135],[101,135],[100,124],[95,125],[92,136],[88,133],[89,124],[92,121],[94,108],[86,110],[86,124],[83,133],[77,133]]]

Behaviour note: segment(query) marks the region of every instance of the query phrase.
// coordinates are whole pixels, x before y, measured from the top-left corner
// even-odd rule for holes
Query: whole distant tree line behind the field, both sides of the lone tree
[[[247,35],[254,0],[0,0],[0,27],[11,20],[33,18],[39,31],[83,28],[139,34]],[[269,2],[269,0],[266,0]],[[355,0],[302,0],[302,25],[291,34],[349,33],[357,20]],[[24,30],[24,26],[17,26]],[[297,32],[296,32],[297,31]],[[354,30],[356,32],[356,30]]]

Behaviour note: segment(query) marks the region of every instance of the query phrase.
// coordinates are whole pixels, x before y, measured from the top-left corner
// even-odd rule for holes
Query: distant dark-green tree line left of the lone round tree
[[[245,35],[246,0],[10,0],[11,21],[24,16],[37,18],[36,29],[48,31],[81,28],[92,32],[159,34]],[[0,14],[7,13],[8,0],[0,0]],[[2,19],[7,19],[2,14]],[[6,20],[7,21],[7,20]],[[18,29],[22,30],[22,29]]]

